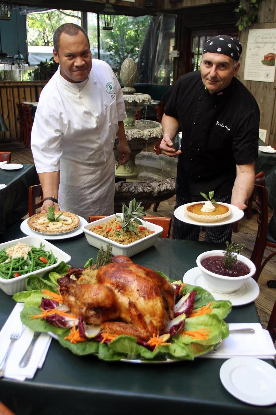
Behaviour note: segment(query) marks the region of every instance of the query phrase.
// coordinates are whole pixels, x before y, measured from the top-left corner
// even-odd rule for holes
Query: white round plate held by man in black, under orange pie
[[[190,203],[186,203],[185,205],[181,205],[177,207],[174,211],[174,215],[178,220],[182,222],[190,223],[190,225],[197,225],[197,226],[221,226],[221,225],[228,225],[229,223],[237,222],[237,220],[242,219],[244,212],[240,210],[237,206],[230,205],[229,203],[223,203],[223,205],[229,206],[231,208],[230,216],[219,220],[217,222],[200,222],[199,220],[194,220],[190,216],[187,216],[184,210],[184,207],[190,205]]]

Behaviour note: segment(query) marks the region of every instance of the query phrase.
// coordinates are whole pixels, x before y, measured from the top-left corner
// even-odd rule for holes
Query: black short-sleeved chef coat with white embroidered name
[[[188,187],[193,200],[202,199],[199,192],[231,195],[236,164],[252,163],[258,156],[260,113],[250,91],[233,78],[210,95],[195,71],[170,88],[164,112],[178,119],[182,129],[178,185]]]

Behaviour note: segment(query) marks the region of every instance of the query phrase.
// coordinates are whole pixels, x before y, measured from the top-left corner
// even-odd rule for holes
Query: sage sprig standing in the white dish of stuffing
[[[142,216],[146,215],[145,212],[143,212],[144,206],[141,206],[141,202],[136,202],[136,199],[132,199],[130,201],[130,206],[127,207],[125,203],[122,204],[122,215],[121,218],[119,215],[116,214],[117,220],[116,222],[121,221],[122,222],[122,229],[125,232],[133,231],[135,233],[138,232],[137,227],[134,225],[136,223],[137,225],[141,225],[142,220],[145,220],[142,218]],[[138,219],[141,218],[141,219]]]

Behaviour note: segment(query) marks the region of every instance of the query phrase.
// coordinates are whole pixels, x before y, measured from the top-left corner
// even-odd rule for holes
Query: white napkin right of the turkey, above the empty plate
[[[234,356],[254,356],[259,359],[274,359],[276,349],[267,330],[259,323],[230,323],[229,330],[252,328],[254,334],[230,333],[223,339],[215,352],[204,354],[200,357],[215,359],[227,359]]]

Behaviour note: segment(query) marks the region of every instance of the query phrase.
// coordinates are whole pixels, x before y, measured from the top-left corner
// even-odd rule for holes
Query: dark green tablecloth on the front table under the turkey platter
[[[20,237],[18,224],[6,240]],[[23,236],[23,235],[22,235]],[[3,242],[3,241],[2,241]],[[73,266],[96,257],[84,235],[53,241],[72,256]],[[197,255],[218,245],[158,239],[156,245],[132,257],[137,264],[180,279],[196,266]],[[220,246],[221,247],[221,246]],[[14,307],[12,297],[0,293],[0,326]],[[235,307],[227,322],[259,322],[254,303]],[[0,400],[17,415],[23,414],[276,414],[276,405],[247,405],[222,386],[219,371],[224,360],[201,359],[171,364],[130,364],[75,356],[52,340],[46,361],[34,379],[0,380]],[[272,361],[269,363],[273,364]]]

